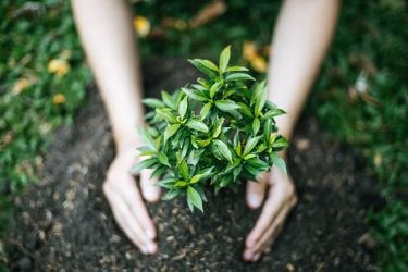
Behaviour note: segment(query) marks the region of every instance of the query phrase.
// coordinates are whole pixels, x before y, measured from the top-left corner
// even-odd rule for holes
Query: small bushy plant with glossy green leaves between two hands
[[[186,194],[191,211],[202,211],[208,183],[219,191],[242,178],[257,181],[273,164],[286,171],[277,152],[288,144],[273,119],[285,112],[267,100],[264,81],[248,87],[255,78],[246,67],[228,66],[230,54],[226,47],[218,66],[190,60],[207,79],[144,100],[156,110],[146,115],[148,128],[139,129],[147,146],[138,150],[147,159],[134,172],[153,169],[151,177],[161,177],[159,185],[168,189],[163,198]]]

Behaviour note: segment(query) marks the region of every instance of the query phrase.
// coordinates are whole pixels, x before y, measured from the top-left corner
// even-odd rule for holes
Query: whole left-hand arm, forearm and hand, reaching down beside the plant
[[[131,7],[125,0],[72,0],[75,23],[111,122],[116,156],[103,191],[120,227],[145,254],[157,251],[154,225],[128,173],[134,148],[141,145],[136,126],[144,125],[141,84]],[[140,174],[143,196],[157,200],[159,191]]]

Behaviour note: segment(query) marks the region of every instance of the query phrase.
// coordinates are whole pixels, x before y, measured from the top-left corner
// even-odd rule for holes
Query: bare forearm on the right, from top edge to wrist
[[[276,119],[290,137],[333,36],[339,0],[286,0],[275,27],[269,98],[287,114]]]

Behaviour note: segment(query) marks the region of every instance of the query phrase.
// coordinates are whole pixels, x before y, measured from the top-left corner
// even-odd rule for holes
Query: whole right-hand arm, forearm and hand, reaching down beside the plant
[[[286,0],[281,10],[269,66],[269,98],[287,114],[276,119],[280,133],[290,137],[325,55],[337,21],[339,0]],[[259,183],[248,182],[247,202],[262,213],[246,239],[244,259],[257,261],[282,230],[297,198],[290,176],[276,168]]]

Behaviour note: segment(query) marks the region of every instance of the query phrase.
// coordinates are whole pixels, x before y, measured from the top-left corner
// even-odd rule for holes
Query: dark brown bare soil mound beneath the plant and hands
[[[149,96],[193,82],[178,60],[144,65]],[[45,156],[40,183],[18,197],[5,243],[12,271],[374,271],[364,214],[381,198],[349,147],[324,137],[313,116],[300,120],[288,169],[299,202],[272,251],[257,263],[242,260],[244,237],[259,211],[235,194],[207,194],[203,214],[184,199],[149,205],[160,251],[143,256],[113,221],[102,194],[113,158],[110,126],[95,87],[73,126],[63,126]]]

